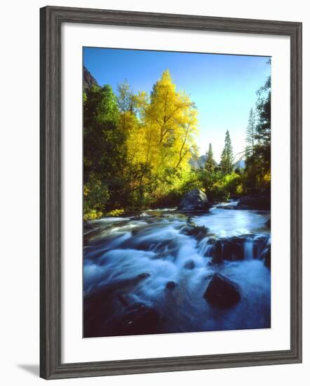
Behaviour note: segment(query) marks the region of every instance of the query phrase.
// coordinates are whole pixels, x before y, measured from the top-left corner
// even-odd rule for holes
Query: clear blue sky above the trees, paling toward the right
[[[83,64],[100,86],[110,84],[115,92],[125,79],[134,92],[149,92],[169,69],[177,90],[189,94],[198,109],[200,154],[205,154],[211,142],[216,161],[220,161],[227,129],[234,153],[243,151],[256,91],[270,75],[267,60],[246,55],[83,48]]]

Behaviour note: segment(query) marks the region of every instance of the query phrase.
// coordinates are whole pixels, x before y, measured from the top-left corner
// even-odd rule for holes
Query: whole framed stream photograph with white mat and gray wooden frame
[[[42,378],[302,361],[302,24],[41,8]]]

